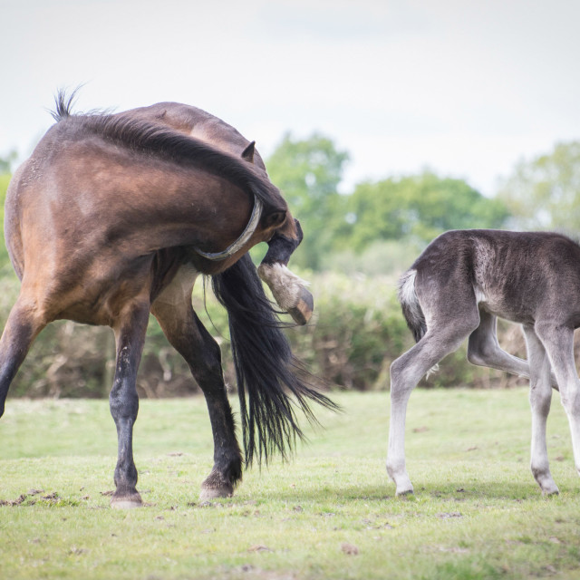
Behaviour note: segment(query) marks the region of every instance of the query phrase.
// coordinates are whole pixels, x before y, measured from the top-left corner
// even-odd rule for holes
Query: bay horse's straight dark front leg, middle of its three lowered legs
[[[139,507],[137,469],[133,461],[133,424],[137,420],[139,398],[135,388],[145,333],[149,322],[149,304],[136,304],[114,328],[117,343],[117,366],[109,401],[117,426],[119,443],[115,468],[115,493],[111,507]]]

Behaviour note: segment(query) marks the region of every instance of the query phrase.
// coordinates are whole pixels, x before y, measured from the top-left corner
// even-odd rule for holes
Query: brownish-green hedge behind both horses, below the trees
[[[397,303],[395,278],[323,274],[312,278],[314,320],[286,331],[295,354],[315,375],[334,388],[386,390],[391,362],[411,347]],[[14,275],[0,281],[0,319],[4,324],[18,291]],[[235,373],[227,340],[227,314],[208,290],[204,306],[201,278],[193,303],[202,322],[222,347],[228,388],[235,390]],[[206,312],[207,309],[207,312]],[[500,343],[525,356],[521,333],[500,324]],[[59,321],[36,339],[11,387],[15,396],[106,397],[114,372],[114,338],[109,328]],[[440,372],[423,380],[423,387],[506,387],[522,383],[505,373],[470,365],[465,346],[440,364]],[[170,346],[153,317],[145,343],[138,390],[141,397],[167,397],[198,391],[189,368]]]

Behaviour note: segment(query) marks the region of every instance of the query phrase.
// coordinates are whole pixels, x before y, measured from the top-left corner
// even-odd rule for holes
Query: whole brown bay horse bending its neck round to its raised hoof
[[[285,454],[302,435],[295,405],[312,418],[308,399],[333,403],[296,370],[247,250],[269,243],[261,273],[304,323],[311,297],[285,268],[300,227],[253,143],[223,121],[175,103],[114,115],[73,115],[71,103],[59,93],[56,124],[14,173],[6,196],[6,244],[22,285],[0,340],[0,415],[46,324],[111,326],[117,362],[110,402],[119,441],[111,506],[139,506],[135,381],[152,313],[208,402],[214,467],[201,498],[231,495],[242,456],[218,344],[193,311],[191,290],[199,274],[212,275],[227,308],[247,463],[274,450]],[[192,134],[203,123],[200,140]],[[208,131],[211,125],[219,131]]]

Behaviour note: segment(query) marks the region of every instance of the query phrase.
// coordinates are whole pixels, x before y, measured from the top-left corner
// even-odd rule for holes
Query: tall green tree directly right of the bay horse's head
[[[266,161],[270,178],[304,230],[293,264],[317,269],[332,247],[335,231],[343,222],[344,198],[337,188],[348,159],[346,151],[337,150],[332,140],[319,133],[304,140],[286,133]]]

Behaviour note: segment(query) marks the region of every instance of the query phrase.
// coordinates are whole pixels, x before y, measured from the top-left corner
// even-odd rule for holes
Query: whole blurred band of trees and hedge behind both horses
[[[0,202],[15,154],[0,157]],[[266,167],[303,225],[305,237],[292,266],[312,280],[314,324],[288,331],[295,352],[325,380],[345,389],[388,388],[389,366],[411,345],[395,295],[397,276],[443,231],[466,227],[556,229],[575,236],[580,229],[580,142],[557,144],[533,160],[522,160],[494,198],[462,179],[424,170],[385,177],[338,193],[348,151],[314,133],[288,133]],[[2,223],[4,219],[2,219]],[[253,250],[256,260],[265,248]],[[14,303],[18,281],[5,245],[0,245],[0,323]],[[194,305],[224,351],[228,384],[234,372],[227,343],[227,316],[198,283]],[[206,314],[206,309],[208,314]],[[500,325],[500,342],[525,356],[518,329]],[[11,392],[27,396],[107,396],[114,371],[110,329],[59,322],[39,336]],[[450,355],[425,386],[498,386],[516,377],[469,365],[462,352]],[[141,396],[194,392],[185,362],[151,318],[138,379]],[[232,387],[233,388],[233,387]]]

